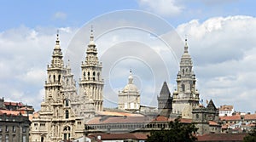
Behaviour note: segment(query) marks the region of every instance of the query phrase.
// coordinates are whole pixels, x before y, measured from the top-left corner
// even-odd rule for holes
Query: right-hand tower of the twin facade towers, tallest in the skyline
[[[81,78],[79,81],[79,95],[87,99],[87,103],[93,105],[93,110],[103,110],[103,79],[102,63],[97,57],[96,44],[94,42],[93,30],[90,31],[90,42],[86,50],[86,58],[81,65]]]

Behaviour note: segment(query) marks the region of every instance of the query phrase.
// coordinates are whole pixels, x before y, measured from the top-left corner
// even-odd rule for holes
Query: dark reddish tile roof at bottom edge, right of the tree
[[[242,141],[247,133],[209,133],[197,136],[197,141]]]

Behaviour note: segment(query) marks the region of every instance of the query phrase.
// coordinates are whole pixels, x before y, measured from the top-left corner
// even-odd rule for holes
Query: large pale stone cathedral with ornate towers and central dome
[[[99,129],[100,132],[123,132],[125,129],[130,131],[141,128],[148,131],[150,128],[156,128],[154,126],[166,126],[165,122],[158,124],[148,122],[151,119],[158,120],[157,116],[165,116],[166,121],[175,116],[182,116],[192,121],[193,116],[197,116],[198,119],[195,120],[201,125],[199,117],[202,113],[207,113],[207,109],[200,109],[199,93],[195,86],[195,73],[188,48],[186,39],[177,73],[177,89],[171,94],[167,82],[163,82],[160,95],[157,97],[158,107],[155,108],[157,111],[150,111],[150,114],[143,112],[140,103],[141,94],[133,82],[132,71],[127,85],[118,93],[118,109],[106,111],[103,110],[102,63],[97,56],[93,31],[90,31],[86,57],[80,65],[79,88],[76,88],[69,63],[64,65],[57,34],[51,62],[47,65],[44,100],[41,103],[41,110],[32,118],[31,141],[73,140],[84,136],[84,132],[98,133]],[[214,105],[211,106],[209,108],[214,116],[211,121],[217,120],[216,108]],[[120,123],[116,121],[112,124],[104,123],[108,119],[120,120]],[[131,125],[124,123],[123,119],[129,120]]]

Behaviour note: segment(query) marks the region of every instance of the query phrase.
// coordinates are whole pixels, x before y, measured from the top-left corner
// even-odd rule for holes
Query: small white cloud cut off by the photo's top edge
[[[163,16],[174,16],[180,14],[184,9],[176,0],[139,0],[139,4],[144,9]]]

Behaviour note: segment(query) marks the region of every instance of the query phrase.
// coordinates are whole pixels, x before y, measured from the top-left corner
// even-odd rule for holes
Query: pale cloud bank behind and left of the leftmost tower
[[[26,26],[0,33],[0,94],[38,110],[46,77],[46,65],[55,45],[55,29]],[[60,28],[63,53],[75,30]]]

